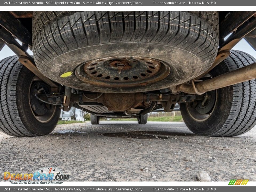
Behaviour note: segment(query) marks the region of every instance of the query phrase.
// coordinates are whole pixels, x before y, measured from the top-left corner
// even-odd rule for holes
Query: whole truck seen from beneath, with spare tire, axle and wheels
[[[235,136],[256,120],[256,11],[1,11],[0,130],[45,135],[61,109],[101,118],[171,112],[196,134]],[[226,37],[226,38],[225,38]],[[20,45],[17,41],[22,42]],[[27,50],[33,51],[33,56]]]

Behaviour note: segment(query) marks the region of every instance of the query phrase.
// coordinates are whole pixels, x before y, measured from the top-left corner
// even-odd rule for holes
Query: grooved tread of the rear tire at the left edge
[[[0,61],[0,130],[15,137],[34,136],[19,118],[16,105],[16,83],[22,67],[16,55]]]

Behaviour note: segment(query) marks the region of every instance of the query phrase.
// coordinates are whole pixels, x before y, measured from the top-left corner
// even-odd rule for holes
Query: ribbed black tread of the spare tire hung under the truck
[[[48,63],[69,50],[111,42],[152,42],[186,49],[204,62],[218,51],[218,11],[34,11],[33,53],[47,76]],[[97,34],[97,35],[95,35]]]

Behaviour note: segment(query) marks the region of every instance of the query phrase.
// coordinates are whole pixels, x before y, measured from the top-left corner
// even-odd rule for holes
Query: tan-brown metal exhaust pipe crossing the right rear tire
[[[230,71],[228,73],[219,75],[217,77],[208,79],[194,84],[192,81],[191,84],[183,83],[178,85],[173,93],[184,92],[189,94],[199,94],[202,95],[207,91],[212,91],[215,89],[227,87],[230,85],[235,85],[237,83],[242,83],[256,78],[256,63],[247,65],[240,69]]]

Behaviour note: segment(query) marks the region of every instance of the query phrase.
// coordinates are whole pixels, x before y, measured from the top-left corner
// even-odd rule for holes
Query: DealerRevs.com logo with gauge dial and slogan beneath
[[[10,173],[4,172],[3,179],[10,180],[13,184],[62,184],[69,180],[70,175],[62,174],[62,171],[55,167],[44,167],[34,173]],[[53,182],[54,180],[54,182]]]

